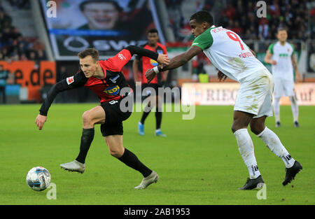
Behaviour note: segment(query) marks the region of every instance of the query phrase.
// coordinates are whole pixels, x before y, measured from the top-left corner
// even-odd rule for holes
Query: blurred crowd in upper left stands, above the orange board
[[[22,0],[11,0],[16,7],[28,7]],[[19,29],[13,26],[12,17],[0,3],[0,60],[8,62],[34,60],[39,62],[46,59],[45,47],[38,38],[25,38]]]

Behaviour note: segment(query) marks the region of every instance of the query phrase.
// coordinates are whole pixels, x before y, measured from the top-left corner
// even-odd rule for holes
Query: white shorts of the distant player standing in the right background
[[[293,97],[294,94],[294,81],[286,80],[284,78],[274,78],[274,98]]]

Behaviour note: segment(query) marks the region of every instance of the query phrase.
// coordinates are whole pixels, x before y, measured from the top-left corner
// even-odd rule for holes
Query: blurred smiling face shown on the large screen
[[[113,29],[119,13],[113,3],[87,3],[83,10],[90,29]]]

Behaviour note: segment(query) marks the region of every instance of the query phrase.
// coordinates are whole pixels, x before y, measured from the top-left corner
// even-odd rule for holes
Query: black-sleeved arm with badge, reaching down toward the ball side
[[[50,88],[47,97],[45,101],[43,101],[43,104],[41,105],[41,108],[39,110],[39,114],[36,117],[35,123],[39,130],[43,129],[43,125],[45,124],[45,121],[47,120],[47,113],[50,108],[50,105],[52,104],[52,101],[54,101],[55,97],[59,92],[62,92],[64,90],[73,89],[76,87],[81,87],[85,84],[87,78],[85,78],[84,73],[82,71],[79,71],[74,76],[66,78],[64,80],[60,80],[58,83],[52,86]]]

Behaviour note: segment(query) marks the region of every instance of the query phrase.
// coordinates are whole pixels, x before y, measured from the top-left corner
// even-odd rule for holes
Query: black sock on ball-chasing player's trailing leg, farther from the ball
[[[125,148],[123,156],[119,157],[118,160],[126,164],[128,167],[139,171],[144,177],[147,177],[152,173],[152,170],[141,163],[138,157],[130,150],[127,150],[127,148]]]

